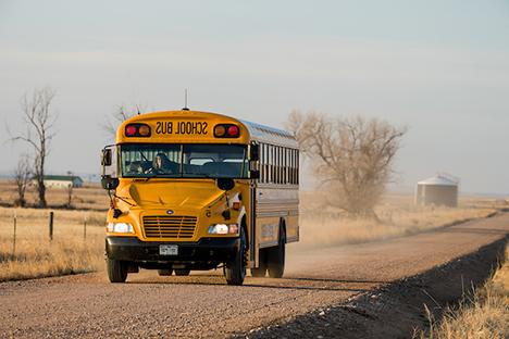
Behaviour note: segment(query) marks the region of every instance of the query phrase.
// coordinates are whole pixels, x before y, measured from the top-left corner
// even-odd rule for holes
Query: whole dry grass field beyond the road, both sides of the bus
[[[53,210],[10,208],[15,197],[14,186],[0,181],[0,281],[55,276],[101,269],[103,230],[108,198],[98,186],[74,190],[73,206],[63,210],[66,190],[50,189],[48,203]],[[35,202],[35,192],[28,194]],[[290,251],[323,248],[343,243],[359,243],[398,237],[465,219],[484,217],[505,208],[495,200],[462,199],[458,209],[419,208],[413,198],[387,196],[377,208],[380,222],[355,219],[340,211],[324,208],[316,192],[301,193],[300,242]],[[54,238],[49,241],[48,216],[54,211]],[[16,215],[16,243],[13,249],[13,217]],[[84,239],[84,222],[87,237]]]

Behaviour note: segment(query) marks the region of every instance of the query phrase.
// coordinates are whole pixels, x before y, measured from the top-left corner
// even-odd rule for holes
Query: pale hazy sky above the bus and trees
[[[98,171],[116,105],[178,109],[189,88],[193,109],[277,127],[294,109],[405,125],[397,187],[444,171],[509,194],[509,1],[0,0],[0,74],[12,130],[26,91],[57,90],[55,173]]]

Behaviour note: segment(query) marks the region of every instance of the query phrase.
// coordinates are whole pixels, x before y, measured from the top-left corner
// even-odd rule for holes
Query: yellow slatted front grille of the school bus
[[[193,238],[196,216],[150,215],[144,216],[144,231],[147,238]]]

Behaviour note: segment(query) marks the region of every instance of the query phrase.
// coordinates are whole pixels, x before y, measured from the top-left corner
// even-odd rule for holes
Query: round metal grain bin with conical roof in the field
[[[458,187],[458,179],[443,174],[421,180],[417,185],[415,204],[457,208]]]

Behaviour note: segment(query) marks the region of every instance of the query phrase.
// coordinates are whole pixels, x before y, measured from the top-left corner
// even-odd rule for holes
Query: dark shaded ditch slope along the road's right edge
[[[447,305],[483,284],[504,258],[507,237],[417,276],[400,279],[347,303],[319,309],[238,338],[409,338],[427,323],[424,305],[439,321]]]

